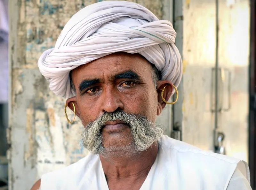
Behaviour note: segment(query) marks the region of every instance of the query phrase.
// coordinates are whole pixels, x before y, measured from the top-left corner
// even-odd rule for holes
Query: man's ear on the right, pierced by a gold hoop
[[[165,87],[165,88],[164,88]],[[170,80],[158,80],[157,81],[157,102],[158,102],[158,108],[157,108],[157,115],[160,115],[162,110],[164,109],[166,103],[162,100],[161,92],[164,89],[164,99],[167,102],[169,98],[172,95],[172,82]]]

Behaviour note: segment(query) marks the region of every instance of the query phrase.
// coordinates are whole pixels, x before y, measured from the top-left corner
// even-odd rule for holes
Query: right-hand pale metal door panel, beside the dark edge
[[[217,130],[225,135],[226,155],[246,162],[248,162],[249,39],[249,0],[233,3],[219,0],[219,68],[229,70],[231,73],[231,93],[229,94],[227,85],[222,85],[218,93],[219,103],[226,104],[226,107],[230,99],[231,107],[218,112]],[[224,81],[227,83],[227,79]],[[220,86],[222,80],[218,82]]]

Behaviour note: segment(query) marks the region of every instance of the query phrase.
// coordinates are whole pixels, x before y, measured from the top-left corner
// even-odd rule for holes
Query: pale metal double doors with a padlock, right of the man
[[[182,140],[213,150],[216,1],[184,0]],[[219,0],[219,67],[231,72],[231,108],[218,114],[228,156],[247,160],[249,0]],[[223,85],[221,85],[221,78]],[[219,79],[219,105],[228,107],[227,73]]]

